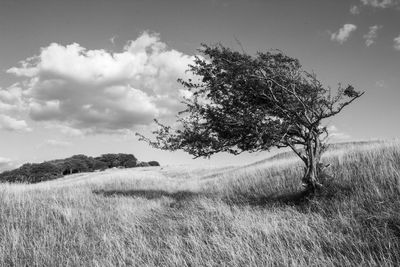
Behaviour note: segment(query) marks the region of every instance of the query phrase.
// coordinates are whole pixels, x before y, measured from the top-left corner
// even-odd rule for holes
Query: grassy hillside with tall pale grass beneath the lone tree
[[[326,154],[301,201],[292,157],[0,185],[2,266],[398,266],[400,143]]]

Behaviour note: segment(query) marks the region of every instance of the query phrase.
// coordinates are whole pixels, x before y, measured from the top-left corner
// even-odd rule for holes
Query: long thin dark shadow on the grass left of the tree
[[[168,197],[174,199],[175,201],[188,200],[200,195],[199,193],[190,191],[167,192],[163,190],[94,190],[92,192],[96,195],[102,195],[104,197],[140,197],[148,200]]]

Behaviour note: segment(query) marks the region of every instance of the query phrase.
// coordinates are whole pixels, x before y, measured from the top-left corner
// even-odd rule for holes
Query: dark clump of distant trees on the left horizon
[[[0,173],[0,182],[38,183],[74,173],[149,166],[160,164],[157,161],[139,162],[132,154],[103,154],[100,157],[74,155],[42,163],[26,163],[17,169]]]

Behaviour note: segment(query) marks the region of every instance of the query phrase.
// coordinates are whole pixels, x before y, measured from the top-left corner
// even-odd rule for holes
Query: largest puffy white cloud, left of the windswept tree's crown
[[[144,32],[121,52],[52,43],[7,72],[25,79],[31,119],[85,133],[118,132],[179,111],[176,80],[189,78],[193,59]]]

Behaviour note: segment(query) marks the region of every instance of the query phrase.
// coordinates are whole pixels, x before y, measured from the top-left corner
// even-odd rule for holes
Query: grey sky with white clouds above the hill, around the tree
[[[0,170],[74,154],[266,158],[193,160],[135,136],[183,109],[177,79],[201,43],[280,49],[326,86],[365,91],[324,122],[332,141],[398,137],[400,0],[0,0]]]

